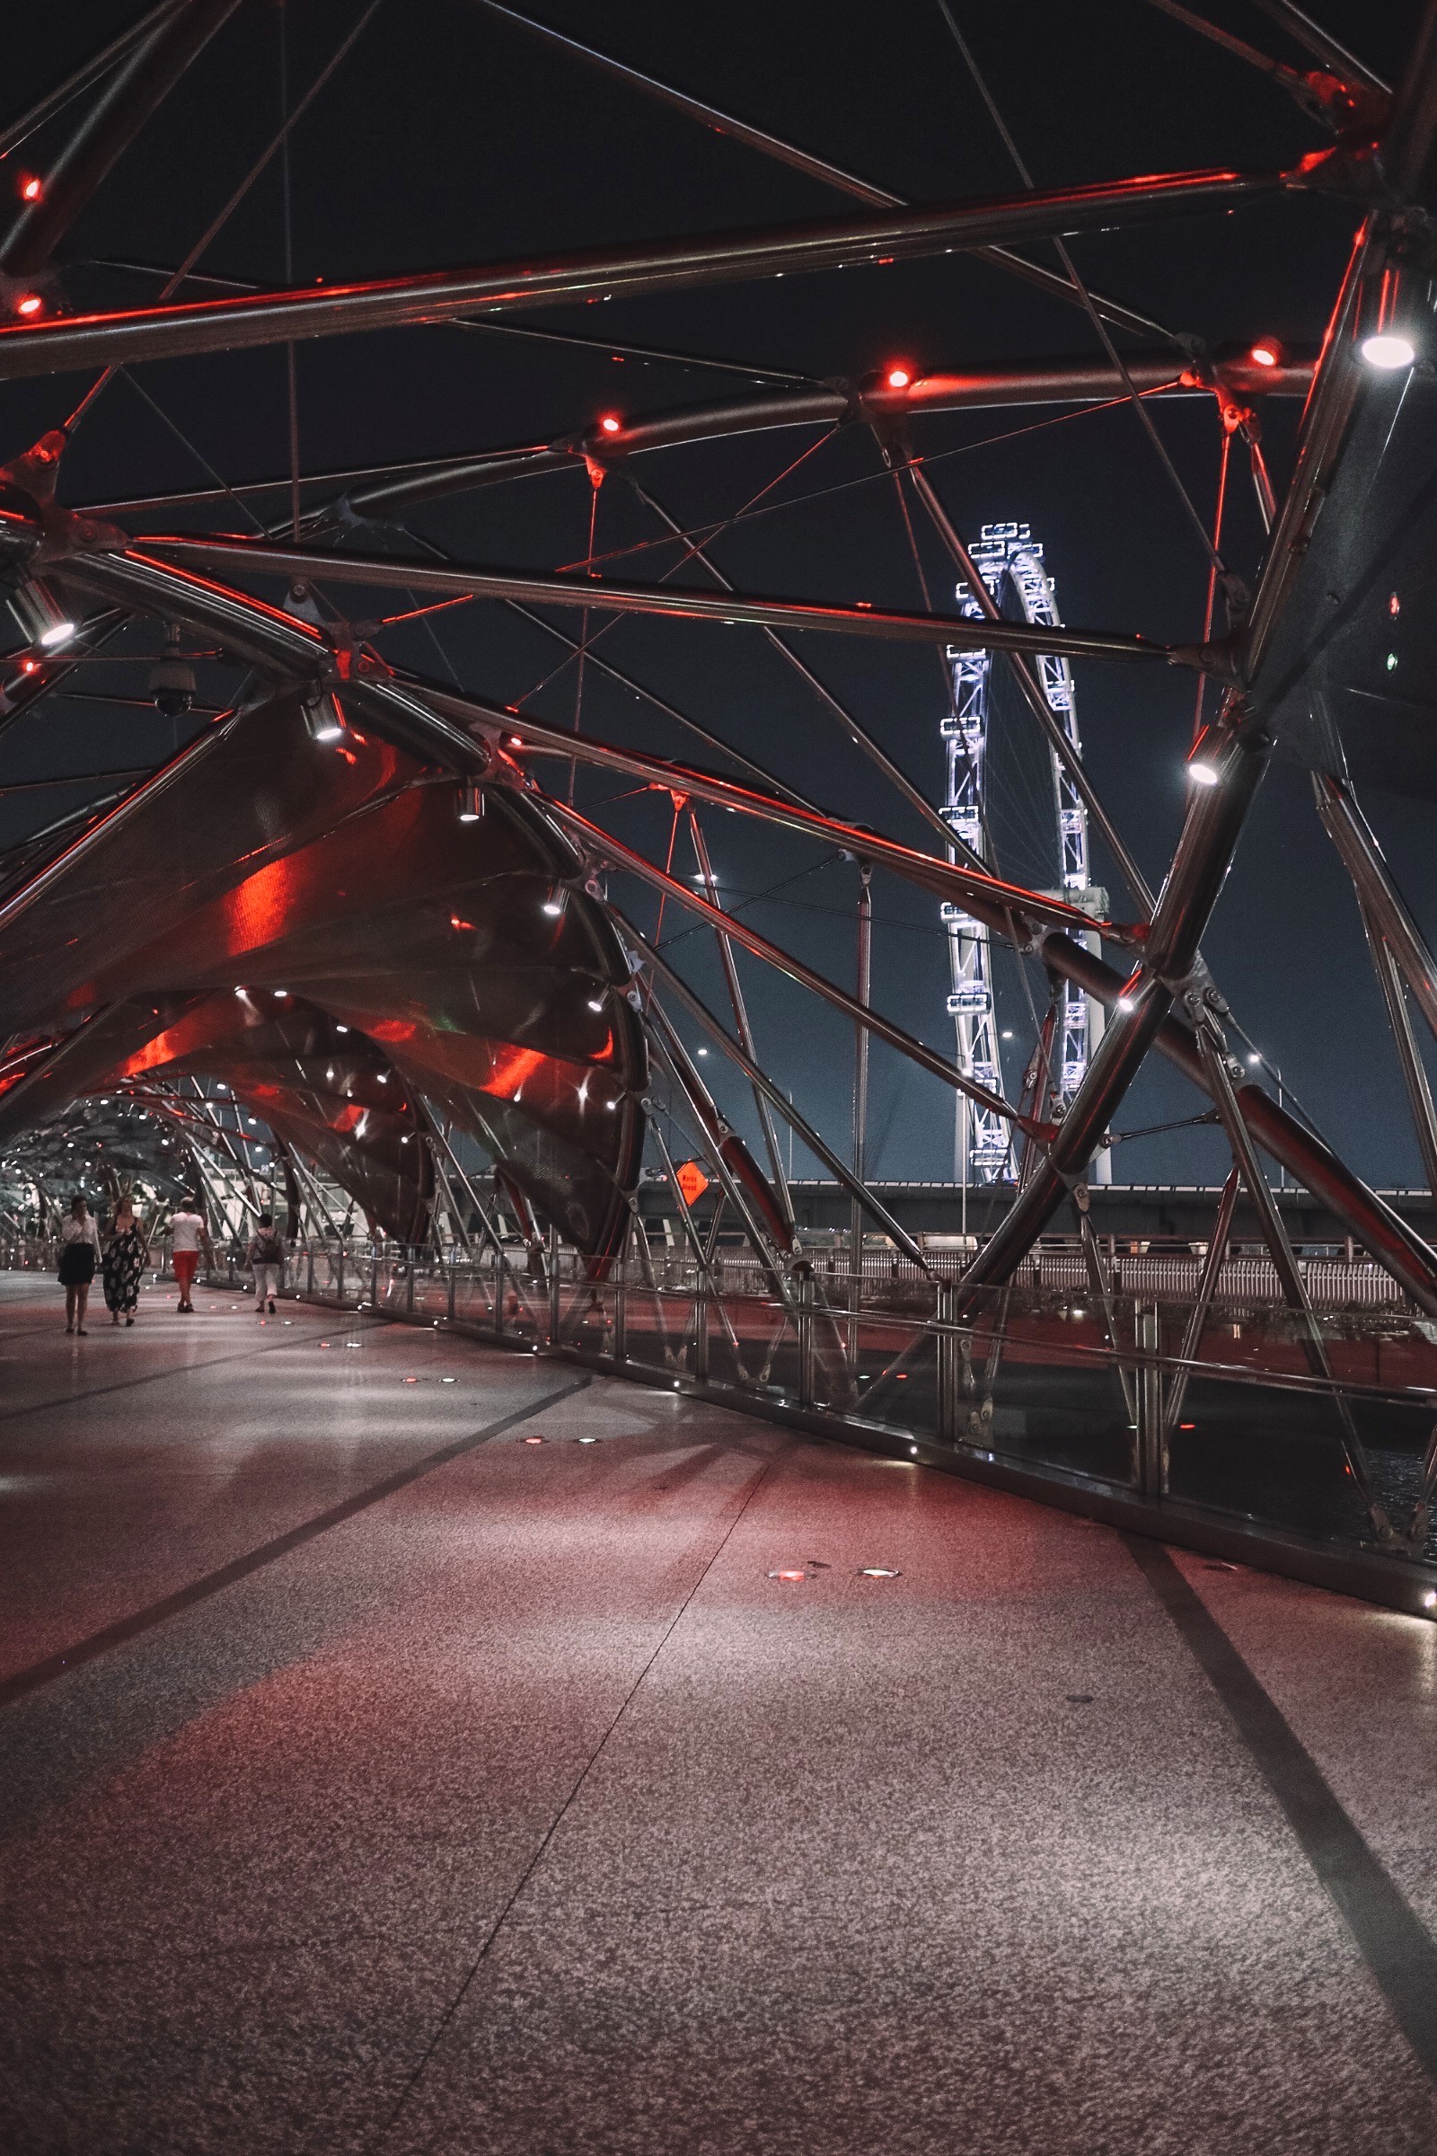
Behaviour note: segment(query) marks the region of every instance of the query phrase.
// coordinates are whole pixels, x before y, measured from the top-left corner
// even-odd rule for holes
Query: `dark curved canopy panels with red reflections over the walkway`
[[[82,1093],[205,1076],[411,1242],[437,1104],[608,1257],[646,1059],[603,914],[582,888],[545,912],[562,837],[513,791],[463,824],[392,746],[312,742],[295,694],[207,750],[9,895],[0,1143]]]

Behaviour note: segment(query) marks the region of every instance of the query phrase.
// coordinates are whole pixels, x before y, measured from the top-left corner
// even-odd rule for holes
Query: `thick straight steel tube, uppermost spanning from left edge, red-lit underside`
[[[474,270],[440,270],[371,285],[308,285],[235,300],[71,315],[39,328],[0,330],[0,382],[58,375],[75,367],[118,367],[394,330],[470,313],[513,313],[588,298],[620,300],[812,270],[853,270],[1004,239],[1045,239],[1051,233],[1090,233],[1230,209],[1234,203],[1301,185],[1308,185],[1306,172],[1170,172],[1047,194],[879,211],[840,222],[700,233],[631,248],[584,248],[577,254],[480,263]]]

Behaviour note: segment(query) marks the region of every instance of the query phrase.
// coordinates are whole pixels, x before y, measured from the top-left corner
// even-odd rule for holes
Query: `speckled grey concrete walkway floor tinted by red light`
[[[6,2152],[1431,2156],[1118,1535],[433,1332],[56,1302],[0,1276]],[[1437,1925],[1437,1628],[1176,1563]]]

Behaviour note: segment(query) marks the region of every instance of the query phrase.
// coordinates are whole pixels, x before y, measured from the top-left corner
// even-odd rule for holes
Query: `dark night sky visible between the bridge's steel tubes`
[[[1327,140],[1256,71],[1142,0],[1010,11],[954,0],[954,11],[1038,185],[1209,164],[1278,168]],[[24,22],[6,24],[9,108],[22,110],[134,13],[134,6],[73,4],[30,11]],[[1379,71],[1396,73],[1415,13],[1411,4],[1364,9],[1331,0],[1323,19]],[[358,0],[291,0],[291,95],[308,86],[358,15]],[[890,9],[832,0],[735,0],[724,9],[612,0],[603,11],[577,0],[545,0],[543,15],[916,201],[997,194],[1015,185],[933,0]],[[1211,4],[1209,15],[1299,63],[1256,6],[1234,0]],[[278,123],[280,26],[274,0],[248,0],[239,9],[78,224],[52,287],[58,304],[125,306],[155,293],[153,278],[99,265],[175,265],[194,244]],[[60,119],[17,151],[0,175],[43,172],[45,151],[65,125]],[[299,282],[842,209],[845,198],[832,190],[573,67],[465,0],[386,0],[293,138]],[[1256,332],[1314,341],[1351,226],[1353,211],[1342,205],[1282,196],[1232,216],[1088,237],[1075,241],[1073,252],[1094,285],[1211,343],[1245,343]],[[278,285],[282,265],[276,162],[200,267]],[[554,308],[524,319],[817,377],[853,377],[892,356],[944,369],[1097,349],[1079,313],[963,257],[603,310]],[[194,453],[140,390],[226,481],[287,468],[280,351],[151,364],[136,369],[136,379],[140,388],[114,382],[80,429],[67,453],[65,500],[205,483]],[[84,377],[2,384],[4,453],[24,448],[65,418],[82,390]],[[743,390],[741,377],[636,360],[616,364],[608,351],[459,328],[351,336],[299,351],[302,464],[325,470],[543,442],[603,410],[655,412],[730,390]],[[1280,485],[1290,466],[1293,412],[1273,407],[1265,423]],[[1185,483],[1209,513],[1217,461],[1211,403],[1174,403],[1157,418]],[[931,476],[965,533],[976,535],[982,522],[997,517],[1032,524],[1058,578],[1064,619],[1159,638],[1196,636],[1204,556],[1131,412],[946,416],[922,423],[918,446],[933,459]],[[892,481],[860,429],[834,440],[817,431],[778,431],[661,453],[642,459],[636,476],[692,526],[733,515],[799,457],[799,468],[767,498],[771,513],[715,543],[715,558],[733,582],[782,595],[920,606]],[[280,507],[276,498],[265,502],[271,513]],[[588,515],[590,489],[577,470],[433,507],[414,520],[414,530],[474,563],[558,567],[586,554]],[[207,520],[209,513],[190,513],[162,524],[205,528]],[[213,522],[235,528],[237,511],[226,505]],[[648,509],[618,481],[605,483],[597,505],[601,552],[653,541],[657,533]],[[1260,528],[1245,479],[1234,492],[1228,550],[1252,578]],[[926,539],[920,552],[933,604],[948,606],[950,571]],[[644,578],[672,565],[672,548],[625,558],[625,569]],[[343,604],[343,589],[334,589]],[[353,604],[373,610],[375,597]],[[562,625],[571,627],[573,619]],[[390,632],[383,649],[420,671],[452,666],[468,688],[508,703],[530,696],[564,658],[552,638],[493,606],[437,617],[435,636],[418,627]],[[151,630],[118,653],[140,658],[153,647]],[[836,813],[894,837],[922,839],[922,826],[838,744],[812,694],[756,632],[620,621],[601,649]],[[944,681],[933,653],[810,636],[804,658],[937,798]],[[90,686],[136,694],[142,679],[142,664],[110,664],[93,673]],[[222,696],[231,679],[215,671],[213,692]],[[1084,664],[1077,692],[1092,776],[1157,882],[1181,819],[1191,679]],[[573,720],[573,668],[567,668],[534,696],[534,709]],[[584,686],[584,724],[685,755],[683,740],[644,716],[633,699],[605,688],[592,671]],[[1015,867],[1023,865],[1023,845],[1032,854],[1038,843],[1032,830],[1023,839],[1019,806],[1034,798],[1034,774],[1043,776],[1021,727],[1015,711],[1004,711]],[[144,711],[56,701],[4,737],[0,783],[147,763],[168,746],[168,729]],[[618,791],[623,787],[605,780],[584,780],[580,798],[588,806]],[[0,806],[2,828],[15,837],[71,804],[73,796],[11,796]],[[612,817],[618,832],[653,849],[666,841],[666,813],[661,798],[646,796],[616,806]],[[1437,929],[1431,804],[1372,791],[1368,813],[1409,899]],[[789,880],[771,899],[752,906],[750,918],[836,979],[851,979],[855,875],[849,865],[825,865],[817,847],[739,830],[728,817],[715,817],[711,849],[733,899]],[[1120,912],[1118,877],[1101,849],[1094,854]],[[687,873],[689,858],[679,858]],[[875,1000],[946,1046],[946,949],[935,910],[885,880],[875,890]],[[653,918],[651,901],[640,901],[640,918]],[[670,914],[666,931],[676,929]],[[1353,1166],[1383,1184],[1415,1181],[1415,1149],[1377,987],[1351,893],[1312,815],[1306,774],[1271,772],[1204,949],[1243,1024]],[[685,966],[692,962],[694,981],[717,1000],[720,983],[702,938],[689,936],[676,951]],[[745,968],[745,981],[773,1076],[795,1089],[825,1134],[845,1138],[851,1031],[756,966]],[[1015,1033],[1017,1054],[1006,1074],[1015,1091],[1028,1018],[1013,968],[1000,979],[1000,994],[1002,1024]],[[733,1106],[743,1123],[739,1095]],[[1196,1106],[1181,1080],[1159,1069],[1138,1082],[1118,1128],[1189,1115]],[[1116,1175],[1122,1181],[1211,1181],[1222,1169],[1222,1138],[1204,1130],[1125,1145]],[[952,1173],[946,1089],[901,1069],[883,1050],[875,1056],[870,1171]]]

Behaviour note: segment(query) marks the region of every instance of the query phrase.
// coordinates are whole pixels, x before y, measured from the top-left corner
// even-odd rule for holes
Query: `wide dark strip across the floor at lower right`
[[[1146,1535],[1120,1539],[1232,1718],[1418,2065],[1437,2083],[1437,1940],[1172,1554]]]

